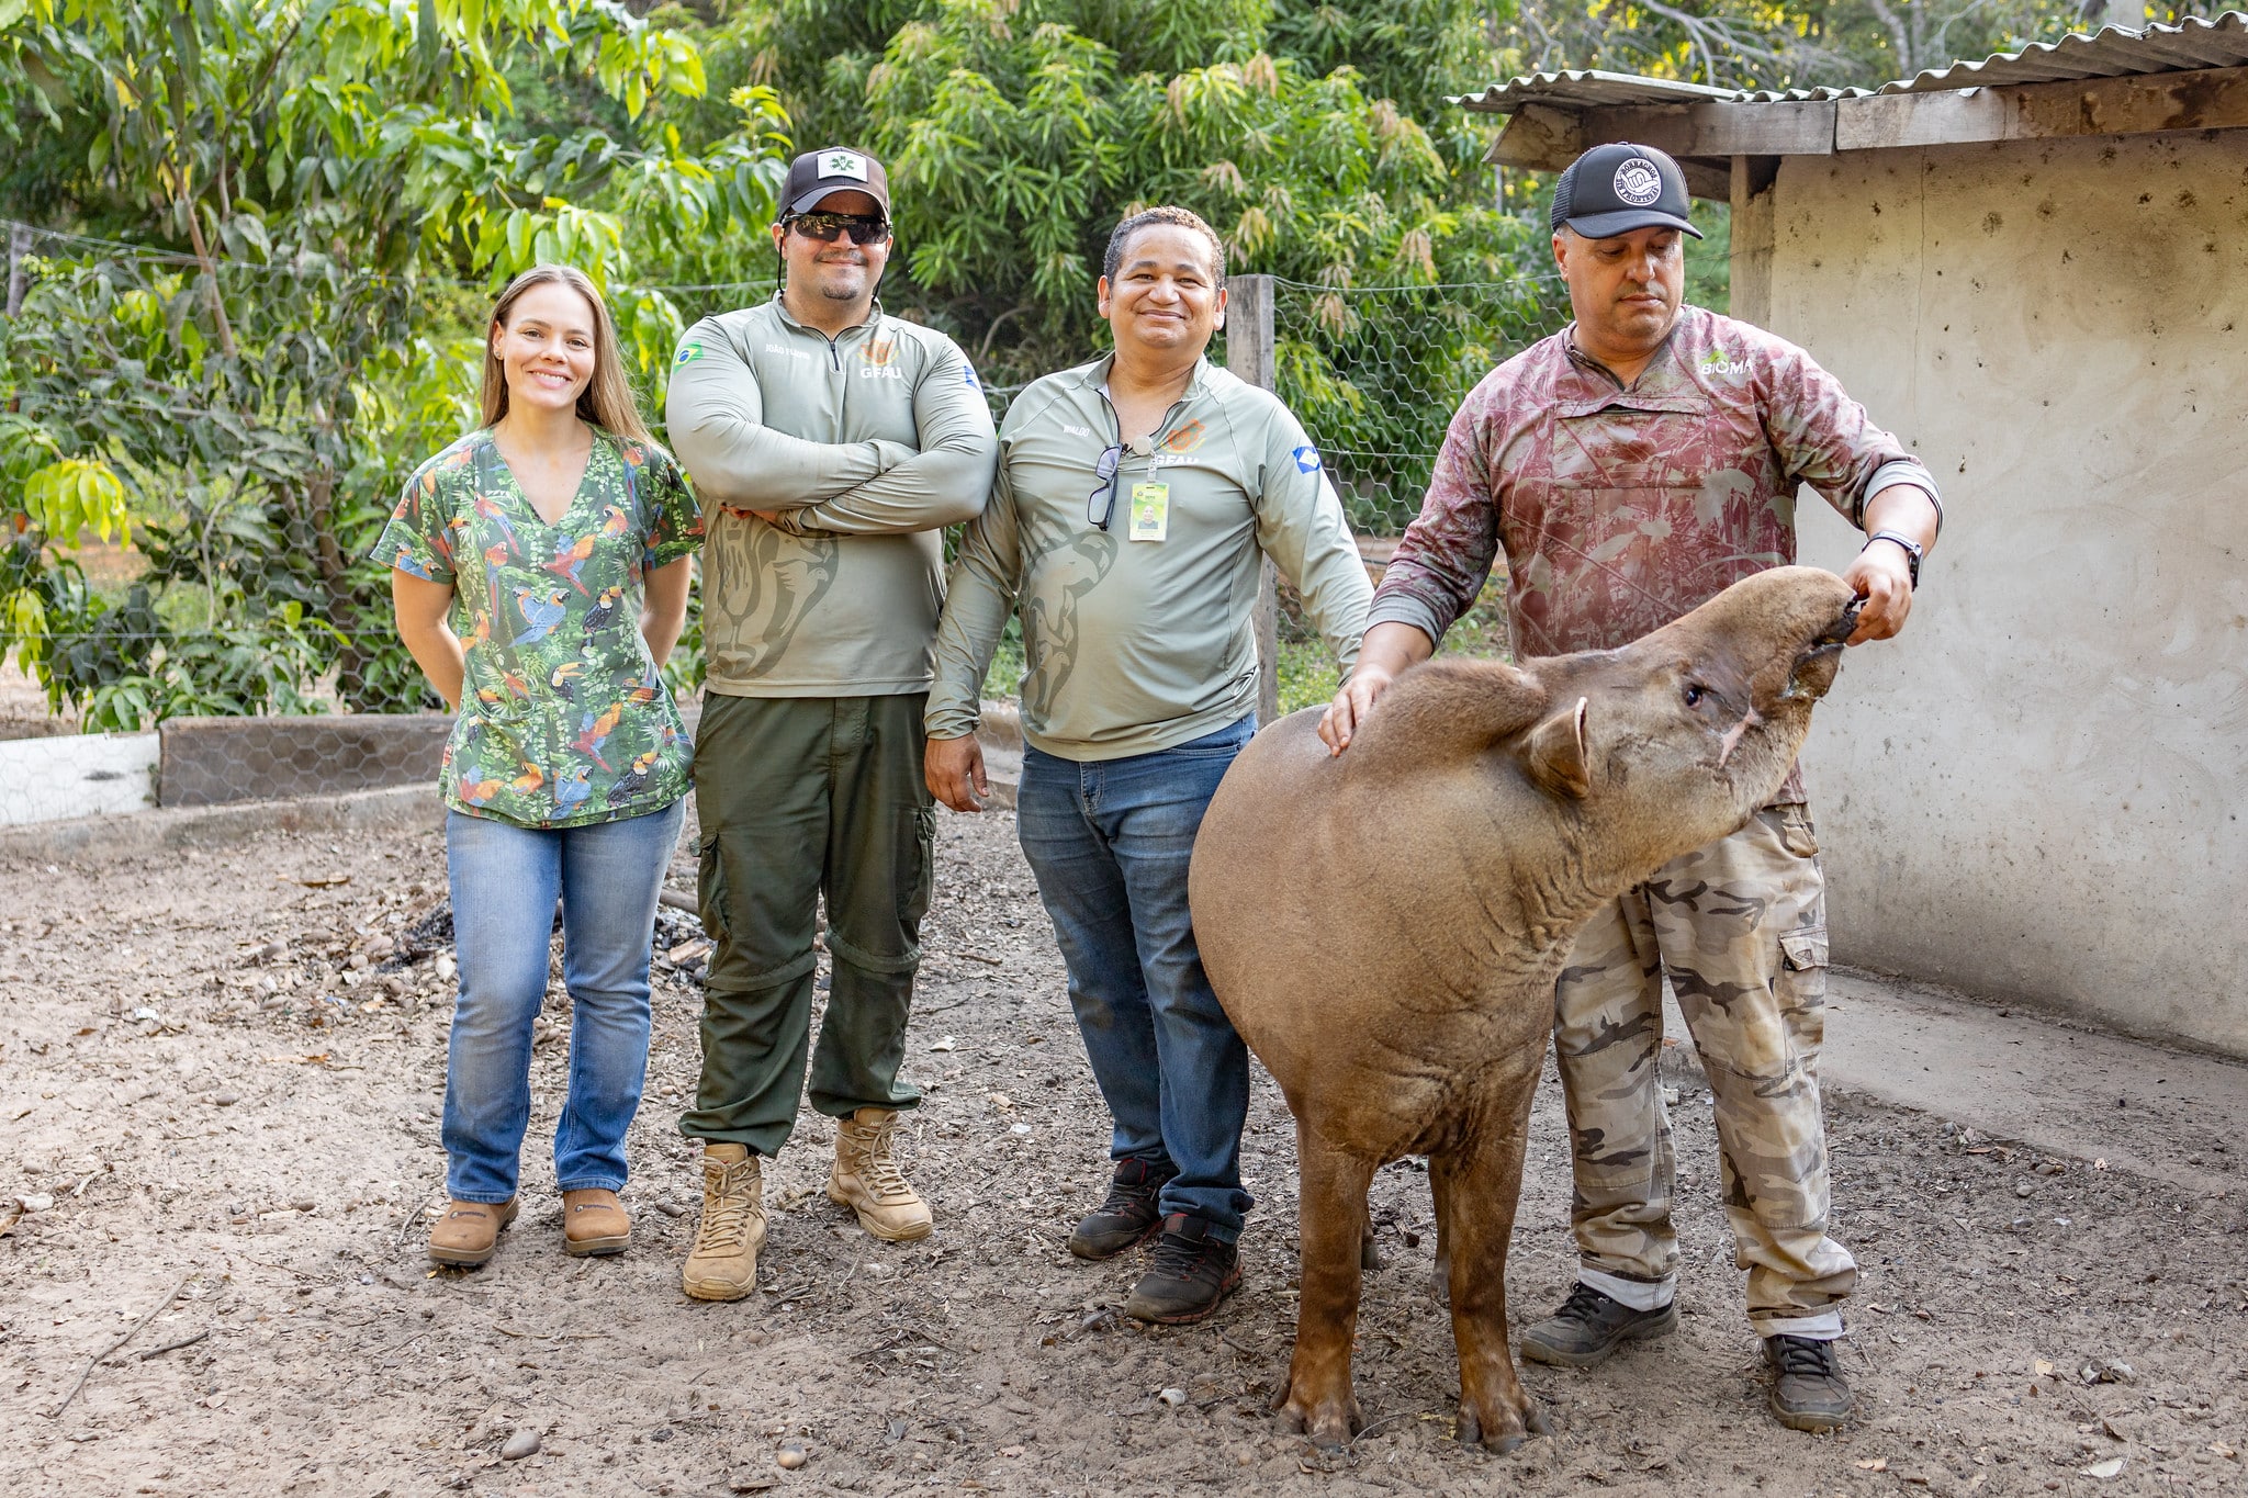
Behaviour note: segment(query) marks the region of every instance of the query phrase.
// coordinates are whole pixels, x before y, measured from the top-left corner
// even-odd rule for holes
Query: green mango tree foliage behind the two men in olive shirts
[[[726,20],[812,141],[890,171],[883,301],[991,386],[1102,346],[1115,222],[1178,202],[1290,283],[1281,395],[1374,530],[1468,384],[1556,321],[1544,234],[1490,198],[1475,0],[778,0]],[[1439,287],[1466,287],[1454,294]]]

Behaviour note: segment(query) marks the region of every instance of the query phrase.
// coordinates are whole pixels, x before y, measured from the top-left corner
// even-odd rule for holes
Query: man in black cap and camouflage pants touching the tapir
[[[1904,624],[1942,521],[1936,481],[1801,348],[1684,305],[1688,234],[1686,180],[1659,150],[1596,146],[1562,173],[1553,258],[1576,321],[1486,375],[1452,418],[1358,672],[1320,725],[1335,752],[1389,681],[1434,651],[1495,561],[1520,656],[1610,649],[1794,561],[1801,485],[1868,532],[1843,573],[1866,600],[1850,642]],[[1798,1431],[1850,1415],[1834,1341],[1857,1264],[1825,1233],[1816,853],[1789,770],[1747,826],[1625,892],[1578,939],[1553,995],[1578,1285],[1522,1334],[1524,1357],[1589,1368],[1675,1325],[1670,1121],[1655,1067],[1668,975],[1715,1098],[1771,1410]]]

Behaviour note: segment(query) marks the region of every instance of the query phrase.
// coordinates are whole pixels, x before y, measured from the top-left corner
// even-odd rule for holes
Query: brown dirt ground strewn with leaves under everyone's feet
[[[859,1233],[821,1193],[832,1125],[807,1114],[769,1172],[762,1294],[740,1305],[679,1294],[699,1193],[674,1130],[697,1067],[679,912],[659,948],[688,970],[661,966],[632,1253],[560,1251],[553,999],[524,1217],[486,1269],[436,1273],[436,833],[0,869],[0,1489],[2248,1491],[2239,1193],[1855,1100],[1830,1103],[1830,1127],[1837,1235],[1864,1264],[1846,1352],[1864,1415],[1837,1437],[1774,1426],[1684,1065],[1679,1332],[1594,1372],[1526,1368],[1558,1433],[1463,1451],[1427,1184],[1401,1163],[1376,1184],[1389,1264],[1360,1323],[1374,1424],[1320,1458],[1266,1413],[1295,1271],[1277,1091],[1259,1078],[1241,1294],[1203,1327],[1117,1321],[1140,1260],[1061,1249],[1099,1197],[1106,1127],[1012,817],[944,815],[940,849],[910,1044],[928,1100],[906,1130],[937,1233]],[[1567,1193],[1549,1083],[1508,1264],[1517,1325],[1571,1278]],[[501,1460],[517,1431],[540,1451]],[[800,1469],[776,1462],[785,1444]]]

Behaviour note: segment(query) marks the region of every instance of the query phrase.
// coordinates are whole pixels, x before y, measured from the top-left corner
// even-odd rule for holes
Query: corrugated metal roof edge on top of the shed
[[[1738,90],[1641,79],[1623,72],[1535,72],[1526,79],[1493,83],[1479,94],[1450,99],[1466,110],[1511,115],[1524,103],[1549,103],[1562,110],[1648,103],[1801,103],[1825,99],[1866,99],[1882,94],[1931,94],[1998,83],[2061,83],[2068,79],[2124,79],[2192,67],[2248,65],[2248,16],[2226,11],[2217,20],[2187,18],[2174,27],[2127,31],[2109,27],[2097,36],[2075,31],[2057,43],[2037,43],[2021,52],[2001,52],[1980,63],[1954,63],[1922,72],[1915,79],[1864,88],[1789,88]]]

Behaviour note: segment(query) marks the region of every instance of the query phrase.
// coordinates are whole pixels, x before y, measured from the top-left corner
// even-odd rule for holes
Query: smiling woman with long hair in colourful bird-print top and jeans
[[[593,283],[526,270],[486,328],[483,424],[407,483],[375,557],[398,636],[459,716],[445,862],[461,997],[429,1258],[481,1264],[517,1213],[531,1024],[562,903],[569,1096],[555,1125],[566,1253],[620,1253],[625,1127],[647,1074],[656,894],[690,746],[663,687],[701,517],[625,382]]]

